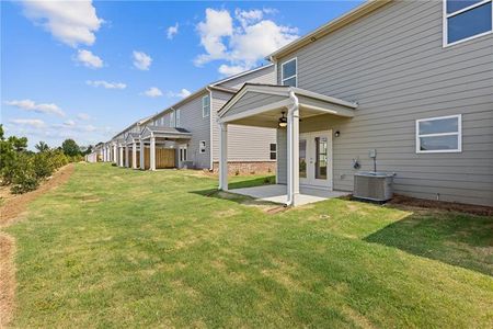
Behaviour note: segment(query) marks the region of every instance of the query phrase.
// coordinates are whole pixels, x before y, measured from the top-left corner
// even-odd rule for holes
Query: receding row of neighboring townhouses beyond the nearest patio
[[[217,170],[217,111],[245,82],[275,83],[275,66],[270,64],[210,83],[145,122],[126,128],[113,138],[119,149],[116,158],[121,160],[116,162],[135,169]],[[229,137],[231,173],[276,170],[275,129],[231,126]]]

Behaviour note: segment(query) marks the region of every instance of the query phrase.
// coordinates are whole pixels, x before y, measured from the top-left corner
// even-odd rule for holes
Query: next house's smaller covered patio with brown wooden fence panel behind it
[[[192,133],[184,128],[147,126],[140,134],[140,168],[150,170],[180,168],[186,160],[186,149]],[[177,157],[177,150],[184,157]],[[149,163],[146,166],[146,163]]]

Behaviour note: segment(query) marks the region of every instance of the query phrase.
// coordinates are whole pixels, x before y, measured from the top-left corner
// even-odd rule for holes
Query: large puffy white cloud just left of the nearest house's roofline
[[[275,13],[272,9],[236,10],[233,19],[227,10],[208,8],[205,21],[197,25],[205,54],[195,58],[195,65],[226,61],[219,67],[223,76],[257,66],[265,56],[298,38],[297,29],[265,18]]]

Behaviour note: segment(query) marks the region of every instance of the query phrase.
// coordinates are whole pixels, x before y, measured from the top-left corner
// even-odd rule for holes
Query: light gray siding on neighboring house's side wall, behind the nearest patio
[[[217,112],[231,98],[225,92],[213,92],[213,159],[219,161],[219,125]],[[228,125],[229,161],[271,161],[271,144],[276,143],[276,131],[272,128]]]

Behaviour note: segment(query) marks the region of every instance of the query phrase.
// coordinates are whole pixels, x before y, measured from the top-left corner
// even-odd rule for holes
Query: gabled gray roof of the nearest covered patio
[[[300,116],[320,114],[353,117],[358,104],[309,90],[274,84],[245,83],[219,111],[219,123],[276,127],[282,111],[299,102]]]

